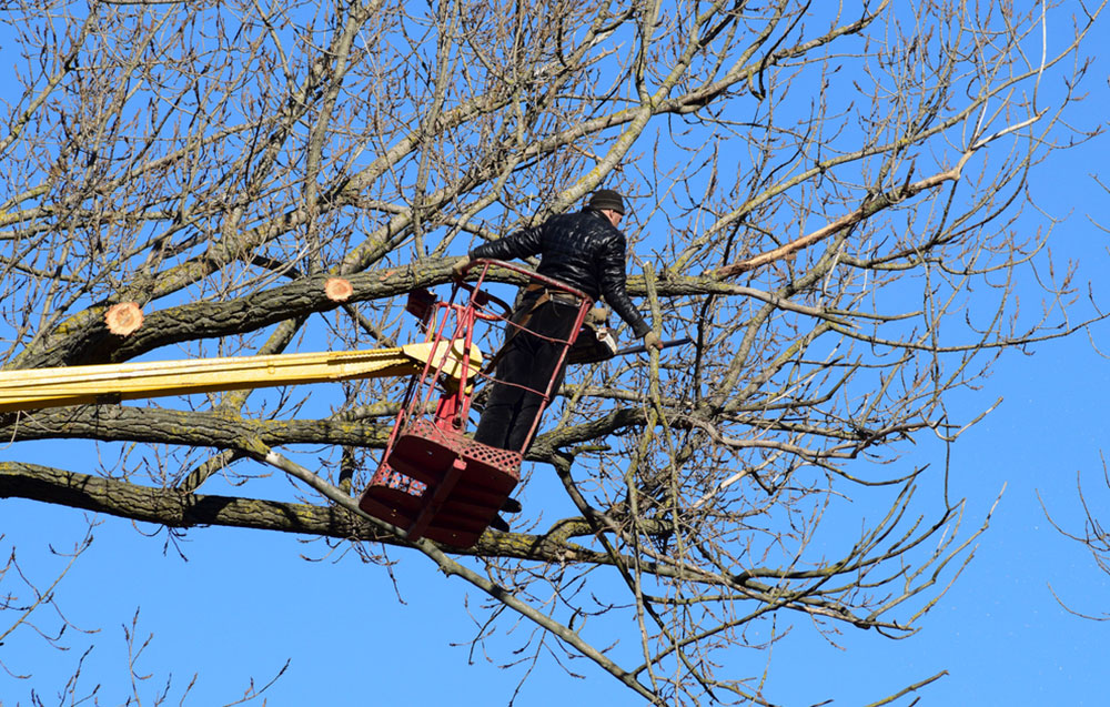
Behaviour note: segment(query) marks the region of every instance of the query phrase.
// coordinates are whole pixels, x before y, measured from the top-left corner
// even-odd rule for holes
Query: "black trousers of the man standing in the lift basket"
[[[572,304],[551,300],[533,309],[534,302],[525,300],[513,314],[512,321],[525,322],[526,329],[509,327],[506,334],[508,341],[497,361],[490,400],[474,434],[477,442],[522,454],[532,424],[538,426],[547,384],[555,378],[551,388],[554,397],[563,382],[563,367],[555,368],[565,344],[535,334],[566,341],[578,314],[578,307]]]

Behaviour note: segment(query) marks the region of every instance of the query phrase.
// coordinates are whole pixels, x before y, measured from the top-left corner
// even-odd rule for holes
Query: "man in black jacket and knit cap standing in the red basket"
[[[604,297],[635,335],[644,340],[645,345],[662,349],[659,336],[644,321],[625,290],[627,243],[617,228],[624,214],[620,194],[602,189],[591,196],[581,212],[552,216],[539,225],[480,245],[457,260],[452,270],[455,276],[461,277],[476,259],[512,260],[539,255],[536,272],[581,290],[595,302],[598,296]],[[573,295],[532,284],[525,290],[512,319],[537,334],[565,340],[574,325],[577,306]],[[561,346],[525,331],[516,331],[516,334],[508,334],[508,341],[498,354],[495,376],[498,382],[512,385],[494,383],[474,438],[490,446],[523,453],[521,447],[535,421],[542,396],[521,386],[532,390],[546,387],[555,373]],[[552,390],[558,390],[562,376],[559,371]],[[515,502],[505,507],[508,512],[517,509]]]

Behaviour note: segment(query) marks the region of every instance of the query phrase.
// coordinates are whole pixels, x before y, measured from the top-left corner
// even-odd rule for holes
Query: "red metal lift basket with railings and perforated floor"
[[[571,335],[566,340],[551,339],[511,322],[507,305],[482,291],[491,267],[511,270],[551,291],[575,296],[578,313]],[[427,341],[437,346],[441,342],[462,340],[462,352],[467,352],[474,344],[476,321],[505,324],[562,344],[555,368],[556,373],[561,371],[593,305],[591,299],[569,285],[512,263],[480,260],[472,266],[475,269],[478,270],[477,281],[473,285],[456,282],[446,302],[424,300],[417,303],[414,313],[430,324]],[[457,304],[455,300],[464,289],[470,290],[470,297],[465,304]],[[504,313],[492,312],[491,302],[498,304]],[[443,375],[444,358],[435,365],[432,361],[426,363],[421,375],[410,382],[382,464],[359,501],[363,511],[402,528],[410,541],[427,537],[457,547],[470,547],[477,542],[519,483],[523,454],[555,394],[553,387],[557,375],[554,374],[544,391],[533,391],[542,395],[543,401],[519,450],[498,450],[481,444],[465,436],[473,391],[478,383],[488,384],[496,378],[491,372],[473,371],[470,356],[463,355],[461,360],[460,380],[473,378],[474,385],[452,385]],[[438,400],[433,404],[434,392],[438,392]]]

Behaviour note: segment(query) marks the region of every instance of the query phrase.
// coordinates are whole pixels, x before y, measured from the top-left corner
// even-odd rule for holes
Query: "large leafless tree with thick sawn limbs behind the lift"
[[[0,496],[370,563],[401,545],[657,704],[769,704],[757,671],[716,666],[776,617],[912,633],[986,521],[958,532],[958,499],[918,499],[944,473],[900,456],[956,441],[973,421],[946,401],[1002,352],[1084,325],[1051,229],[1015,219],[1039,165],[1094,137],[1066,117],[1104,3],[815,4],[10,10],[8,370],[391,346],[413,331],[402,295],[447,283],[452,255],[599,186],[634,208],[632,293],[694,343],[573,370],[528,462],[576,511],[529,503],[527,528],[465,552],[356,511],[389,381],[8,414],[16,455],[115,454],[0,462]],[[1046,46],[1047,22],[1072,40]],[[1012,296],[1030,271],[1035,316]],[[125,303],[141,326],[112,333]],[[266,468],[301,491],[252,497]],[[849,538],[852,497],[884,509]],[[599,613],[632,617],[638,656],[582,627]]]

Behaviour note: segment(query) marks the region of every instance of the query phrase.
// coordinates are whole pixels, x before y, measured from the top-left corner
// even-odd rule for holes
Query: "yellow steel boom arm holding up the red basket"
[[[450,380],[463,377],[462,341],[407,344],[397,349],[274,354],[118,363],[61,368],[0,371],[0,412],[87,403],[186,395],[297,383],[418,374],[434,358]],[[466,377],[482,367],[482,352],[470,351]]]

